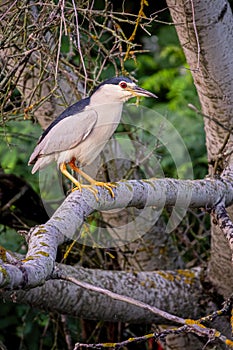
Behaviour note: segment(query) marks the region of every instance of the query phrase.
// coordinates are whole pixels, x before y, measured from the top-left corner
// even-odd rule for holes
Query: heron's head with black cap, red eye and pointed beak
[[[145,89],[137,86],[131,79],[126,77],[115,77],[105,80],[101,83],[91,95],[91,100],[97,104],[112,103],[112,102],[125,102],[132,97],[154,97]]]

